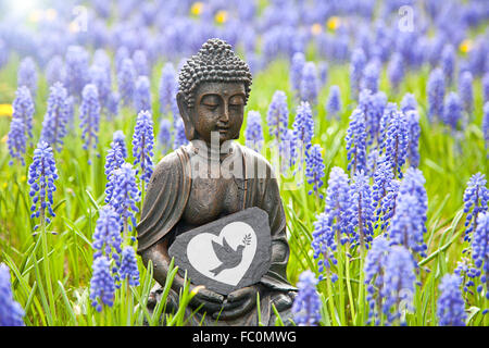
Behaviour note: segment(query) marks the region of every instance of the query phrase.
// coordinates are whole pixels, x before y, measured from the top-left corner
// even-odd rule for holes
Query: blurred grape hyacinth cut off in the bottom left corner
[[[10,282],[10,271],[0,263],[0,326],[24,326],[25,312],[15,301]]]

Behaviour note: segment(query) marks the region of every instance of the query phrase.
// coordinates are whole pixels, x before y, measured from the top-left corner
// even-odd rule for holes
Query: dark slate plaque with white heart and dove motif
[[[255,284],[271,265],[268,214],[253,207],[177,236],[170,247],[190,282],[227,295]]]

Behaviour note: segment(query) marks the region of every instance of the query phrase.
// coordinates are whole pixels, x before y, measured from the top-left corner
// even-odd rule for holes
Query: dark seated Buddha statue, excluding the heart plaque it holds
[[[252,207],[267,213],[269,269],[256,284],[227,296],[190,283],[190,290],[197,293],[187,308],[190,325],[258,325],[258,298],[262,324],[275,324],[272,304],[283,322],[290,323],[297,289],[286,275],[289,246],[277,179],[261,154],[234,141],[239,138],[251,83],[248,64],[221,39],[208,40],[181,67],[176,99],[189,142],[156,164],[136,228],[138,253],[145,265],[151,260],[156,281],[148,301],[151,310],[161,300],[171,263],[168,248],[178,235]],[[201,166],[197,175],[196,166],[212,158],[215,161]],[[230,174],[220,175],[215,165],[225,161],[242,165],[231,164]],[[264,175],[259,175],[260,169]],[[166,312],[178,308],[184,284],[178,272],[166,298]]]

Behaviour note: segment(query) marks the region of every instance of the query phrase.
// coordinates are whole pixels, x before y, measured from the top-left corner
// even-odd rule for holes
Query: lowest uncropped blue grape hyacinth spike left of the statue
[[[93,274],[90,279],[91,306],[98,312],[102,311],[102,304],[112,307],[115,295],[115,281],[111,275],[111,265],[106,257],[102,256],[93,260]]]

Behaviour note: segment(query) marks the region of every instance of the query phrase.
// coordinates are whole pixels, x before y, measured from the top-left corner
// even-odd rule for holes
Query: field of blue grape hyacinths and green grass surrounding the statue
[[[159,324],[133,226],[213,37],[253,74],[238,141],[280,173],[294,323],[488,325],[488,24],[485,0],[0,0],[0,325]]]

